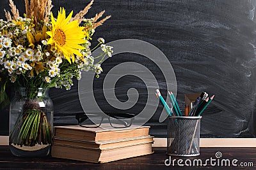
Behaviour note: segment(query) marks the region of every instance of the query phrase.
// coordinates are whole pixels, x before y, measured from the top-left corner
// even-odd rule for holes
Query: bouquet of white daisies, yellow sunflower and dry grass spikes
[[[98,45],[91,48],[90,41],[96,27],[111,16],[99,20],[104,14],[102,11],[93,18],[84,18],[93,1],[74,17],[73,12],[66,15],[65,9],[60,8],[57,18],[51,13],[51,0],[24,2],[24,17],[20,17],[19,10],[10,0],[11,12],[4,10],[7,20],[0,20],[0,103],[7,103],[5,87],[8,83],[26,89],[65,87],[69,90],[72,79],[81,78],[81,71],[93,70],[99,76],[102,72],[100,62],[106,55],[111,56],[112,47],[104,45],[104,39],[99,38]],[[97,57],[102,60],[95,63],[91,53],[98,46],[101,46],[102,54]],[[35,95],[29,93],[28,99]],[[36,113],[36,109],[31,108],[31,112]],[[38,111],[38,114],[42,113]],[[29,121],[32,121],[29,124],[38,123],[32,118]],[[29,124],[25,124],[26,131]]]

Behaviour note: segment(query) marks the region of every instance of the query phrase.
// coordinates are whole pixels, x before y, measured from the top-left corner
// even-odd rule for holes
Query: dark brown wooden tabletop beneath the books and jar
[[[152,155],[145,155],[131,159],[118,160],[106,164],[92,164],[88,162],[81,162],[76,160],[56,159],[52,157],[45,158],[21,158],[14,157],[10,152],[8,146],[0,146],[0,169],[256,169],[256,148],[200,148],[200,155],[198,157],[171,157],[171,161],[175,160],[175,164],[166,166],[164,161],[170,159],[166,155],[165,148],[154,148]],[[216,159],[216,152],[221,152],[222,157]],[[206,159],[216,162],[215,166],[211,166],[210,160],[207,166],[204,166]],[[177,160],[182,159],[179,166]],[[195,166],[193,166],[193,161]],[[197,166],[197,160],[201,159],[203,165]],[[230,166],[218,166],[218,160],[229,159]],[[232,160],[237,159],[237,167],[232,166]],[[180,160],[181,161],[181,160]],[[189,164],[191,161],[192,166],[186,166],[185,162]],[[247,164],[247,167],[241,167],[241,163]],[[166,161],[169,163],[169,160]],[[212,162],[214,163],[214,162]],[[253,164],[253,166],[252,166]],[[223,165],[224,162],[223,162]],[[249,167],[251,166],[251,167]]]

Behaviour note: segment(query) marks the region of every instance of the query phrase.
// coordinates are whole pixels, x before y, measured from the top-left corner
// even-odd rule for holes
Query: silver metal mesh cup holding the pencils
[[[201,118],[202,117],[168,117],[168,155],[182,157],[200,155]]]

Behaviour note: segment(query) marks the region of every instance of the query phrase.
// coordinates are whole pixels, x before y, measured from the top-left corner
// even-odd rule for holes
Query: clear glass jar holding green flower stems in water
[[[13,155],[49,155],[52,132],[53,103],[49,89],[17,89],[10,103],[9,119],[9,146]]]

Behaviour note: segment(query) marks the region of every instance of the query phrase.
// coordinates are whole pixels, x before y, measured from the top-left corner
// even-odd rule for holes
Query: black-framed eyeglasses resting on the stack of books
[[[77,113],[76,120],[81,127],[96,128],[100,127],[104,118],[108,118],[109,124],[114,128],[130,127],[135,115],[132,113],[99,113],[99,114],[85,114]],[[90,120],[92,125],[84,125],[83,122]],[[87,121],[88,123],[88,121]]]

